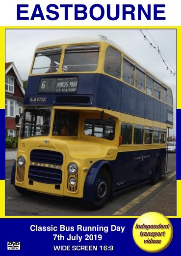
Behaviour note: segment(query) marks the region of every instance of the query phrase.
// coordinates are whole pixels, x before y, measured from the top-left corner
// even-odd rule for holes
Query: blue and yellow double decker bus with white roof
[[[39,44],[20,118],[11,184],[22,194],[95,210],[166,172],[171,88],[105,36]]]

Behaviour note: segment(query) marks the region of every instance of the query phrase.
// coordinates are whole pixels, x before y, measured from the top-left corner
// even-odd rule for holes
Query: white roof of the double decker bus
[[[66,37],[66,38],[60,38],[52,41],[42,42],[37,45],[36,50],[40,48],[48,48],[52,46],[60,46],[63,44],[78,44],[78,43],[96,43],[96,42],[105,42],[109,45],[112,45],[116,49],[123,52],[130,60],[144,68],[155,80],[162,83],[166,87],[168,87],[171,91],[171,87],[166,84],[164,81],[162,81],[160,78],[156,77],[152,72],[150,72],[147,68],[144,67],[144,65],[138,63],[134,58],[132,58],[123,48],[120,47],[117,43],[107,38],[107,36],[104,35],[85,35],[85,36],[74,36],[74,37]]]

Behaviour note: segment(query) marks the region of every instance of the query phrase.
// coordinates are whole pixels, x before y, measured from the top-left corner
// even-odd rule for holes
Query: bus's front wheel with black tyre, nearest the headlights
[[[84,202],[84,207],[88,210],[98,210],[103,207],[110,196],[111,179],[105,169],[101,169],[96,178],[95,198],[93,201]]]

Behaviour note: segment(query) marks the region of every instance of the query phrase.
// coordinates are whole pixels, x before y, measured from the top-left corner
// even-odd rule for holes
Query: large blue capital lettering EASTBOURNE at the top
[[[93,4],[87,7],[85,4],[49,4],[41,6],[35,4],[17,4],[17,20],[86,20],[94,21],[108,19],[116,21],[124,20],[166,20],[165,4]]]

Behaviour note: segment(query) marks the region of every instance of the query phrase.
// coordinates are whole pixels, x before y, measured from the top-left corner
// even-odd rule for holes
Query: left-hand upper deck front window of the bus
[[[58,70],[62,49],[61,47],[38,50],[31,70],[32,74],[54,73]]]

